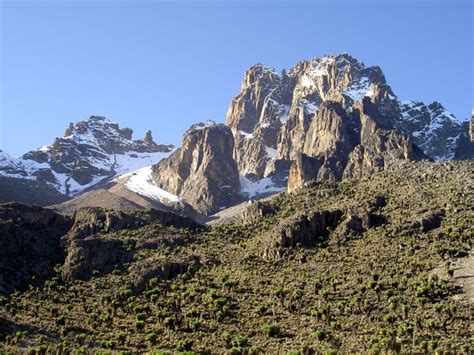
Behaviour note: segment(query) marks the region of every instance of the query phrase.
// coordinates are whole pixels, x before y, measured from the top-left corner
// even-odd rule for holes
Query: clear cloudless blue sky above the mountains
[[[104,115],[179,144],[223,122],[244,71],[347,52],[402,99],[470,117],[473,6],[445,1],[2,1],[0,149],[52,142]]]

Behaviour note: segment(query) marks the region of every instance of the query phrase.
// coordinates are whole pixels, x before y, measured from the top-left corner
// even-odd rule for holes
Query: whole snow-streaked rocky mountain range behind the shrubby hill
[[[64,137],[21,158],[1,153],[3,200],[69,212],[165,208],[201,221],[313,180],[361,178],[405,160],[474,158],[467,121],[438,102],[402,101],[381,68],[348,54],[281,73],[253,65],[225,122],[193,125],[176,150],[151,132],[132,140],[131,129],[104,117],[71,123]],[[22,193],[12,192],[17,184]]]

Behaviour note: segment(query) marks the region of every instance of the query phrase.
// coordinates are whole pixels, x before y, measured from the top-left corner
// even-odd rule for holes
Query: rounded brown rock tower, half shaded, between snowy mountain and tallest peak
[[[181,147],[154,166],[154,181],[199,212],[216,212],[239,196],[233,151],[234,139],[225,125],[212,121],[194,125],[185,133]]]

